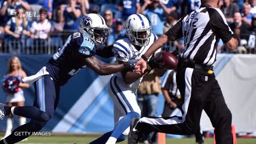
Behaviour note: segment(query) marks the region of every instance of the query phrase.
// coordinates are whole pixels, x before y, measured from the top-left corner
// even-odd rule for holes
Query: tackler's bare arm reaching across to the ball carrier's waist
[[[132,67],[127,62],[117,65],[103,64],[95,57],[84,59],[84,64],[93,71],[95,71],[95,73],[98,73],[99,75],[110,75],[117,73],[118,71],[132,69]]]

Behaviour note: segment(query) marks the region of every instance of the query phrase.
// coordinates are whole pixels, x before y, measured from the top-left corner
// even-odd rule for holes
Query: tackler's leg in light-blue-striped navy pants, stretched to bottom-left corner
[[[39,84],[39,89],[36,89],[37,94],[34,101],[34,106],[45,113],[43,121],[31,119],[29,123],[17,127],[17,129],[15,129],[12,134],[9,135],[9,137],[4,139],[5,142],[16,143],[29,137],[33,132],[38,132],[41,130],[47,121],[49,121],[53,116],[59,100],[59,86],[55,86],[49,75],[44,76],[42,80],[43,81],[41,84]],[[46,119],[47,121],[45,121]],[[17,136],[15,135],[17,132],[27,133]],[[0,143],[2,144],[4,141],[0,141]]]

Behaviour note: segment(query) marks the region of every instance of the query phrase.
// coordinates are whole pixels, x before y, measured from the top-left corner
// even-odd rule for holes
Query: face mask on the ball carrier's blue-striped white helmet
[[[141,30],[132,30],[130,33],[132,42],[135,45],[143,46],[146,45],[151,36],[151,27]]]

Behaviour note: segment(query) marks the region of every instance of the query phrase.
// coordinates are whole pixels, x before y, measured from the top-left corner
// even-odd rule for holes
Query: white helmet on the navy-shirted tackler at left
[[[108,39],[108,26],[99,14],[86,14],[79,22],[78,31],[84,35],[89,34],[100,44],[105,44]]]

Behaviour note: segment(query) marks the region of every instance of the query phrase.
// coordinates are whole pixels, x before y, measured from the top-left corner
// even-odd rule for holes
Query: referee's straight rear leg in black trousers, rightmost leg
[[[216,143],[233,143],[233,136],[231,133],[232,115],[226,105],[217,80],[215,80],[215,84],[212,87],[209,100],[207,101],[204,110],[215,128],[214,133]]]

